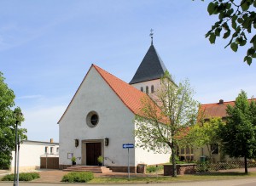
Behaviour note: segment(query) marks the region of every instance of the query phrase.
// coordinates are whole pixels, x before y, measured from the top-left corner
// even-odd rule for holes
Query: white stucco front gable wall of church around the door
[[[86,124],[86,116],[92,110],[99,116],[99,123],[93,128]],[[59,123],[60,165],[71,165],[67,153],[82,157],[82,140],[109,138],[108,147],[103,145],[102,155],[111,161],[108,159],[104,164],[127,166],[127,149],[123,149],[122,144],[134,144],[133,119],[131,110],[92,67]],[[77,148],[74,146],[76,138],[79,139]],[[82,162],[82,159],[77,160],[77,164]],[[135,166],[134,149],[130,150],[130,162]]]

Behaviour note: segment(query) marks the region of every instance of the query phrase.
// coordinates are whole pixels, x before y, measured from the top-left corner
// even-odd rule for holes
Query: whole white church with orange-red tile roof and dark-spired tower
[[[61,116],[60,169],[72,164],[97,165],[97,157],[104,157],[104,165],[114,172],[127,171],[127,149],[123,144],[135,144],[136,115],[140,115],[141,99],[153,95],[160,86],[165,65],[153,43],[130,84],[91,65],[67,110]],[[147,149],[130,149],[131,172],[137,165],[159,164],[169,161],[170,154],[157,154]]]

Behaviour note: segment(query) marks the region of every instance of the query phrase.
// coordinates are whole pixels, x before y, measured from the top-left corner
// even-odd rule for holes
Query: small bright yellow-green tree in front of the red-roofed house
[[[212,161],[212,153],[218,148],[219,127],[222,127],[224,122],[221,118],[212,118],[209,121],[203,121],[202,123],[197,123],[194,127],[191,127],[189,131],[189,141],[194,144],[195,147],[207,146],[207,151],[210,160]]]

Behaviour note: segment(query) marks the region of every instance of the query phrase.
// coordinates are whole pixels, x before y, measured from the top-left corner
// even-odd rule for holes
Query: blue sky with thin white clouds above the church
[[[207,2],[169,0],[0,0],[0,71],[15,91],[30,140],[59,139],[57,121],[91,64],[130,82],[150,45],[177,82],[188,78],[201,104],[255,95],[246,50],[211,45]]]

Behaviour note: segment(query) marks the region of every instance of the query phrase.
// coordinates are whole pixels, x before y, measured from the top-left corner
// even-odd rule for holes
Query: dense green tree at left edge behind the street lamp
[[[15,93],[4,83],[3,73],[0,72],[0,169],[8,169],[11,162],[11,152],[15,149],[15,113],[21,112],[15,106]],[[24,121],[23,117],[19,121]],[[18,124],[20,126],[20,123]],[[18,130],[21,139],[26,138],[26,129]]]

